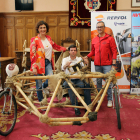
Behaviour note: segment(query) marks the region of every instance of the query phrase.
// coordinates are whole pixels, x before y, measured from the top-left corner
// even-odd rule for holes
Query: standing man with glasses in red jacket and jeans
[[[86,57],[94,58],[95,71],[101,73],[109,72],[113,67],[115,68],[117,48],[114,38],[111,35],[105,33],[105,24],[103,21],[99,21],[96,24],[99,35],[92,39],[92,50]],[[97,78],[98,91],[102,88],[102,79]],[[108,107],[112,107],[112,91],[111,85],[107,91],[108,94]]]

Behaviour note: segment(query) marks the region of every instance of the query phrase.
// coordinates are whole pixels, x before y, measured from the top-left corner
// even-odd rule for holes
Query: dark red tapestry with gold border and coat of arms
[[[69,0],[69,27],[90,28],[91,11],[116,10],[117,0]]]

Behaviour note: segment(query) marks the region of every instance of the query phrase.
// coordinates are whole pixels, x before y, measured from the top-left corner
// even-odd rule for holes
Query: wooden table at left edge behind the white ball
[[[2,88],[4,89],[4,82],[6,79],[6,71],[5,68],[8,64],[14,63],[15,57],[0,57],[0,62],[1,62],[1,83],[2,83]]]

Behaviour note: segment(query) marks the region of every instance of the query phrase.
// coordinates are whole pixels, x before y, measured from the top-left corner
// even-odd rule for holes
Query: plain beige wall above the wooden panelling
[[[34,0],[34,11],[68,11],[69,0]],[[117,10],[140,10],[131,8],[131,0],[117,0]],[[0,0],[0,12],[15,11],[15,0]]]

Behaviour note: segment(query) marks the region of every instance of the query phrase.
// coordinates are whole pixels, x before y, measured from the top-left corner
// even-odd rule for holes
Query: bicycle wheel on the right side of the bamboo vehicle
[[[120,107],[118,103],[118,96],[117,96],[116,88],[114,88],[114,96],[115,96],[115,109],[116,109],[116,114],[117,114],[118,129],[121,129]]]

